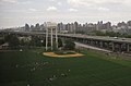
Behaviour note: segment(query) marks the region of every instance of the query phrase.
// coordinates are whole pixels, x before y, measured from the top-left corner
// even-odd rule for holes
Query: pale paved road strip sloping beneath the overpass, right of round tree
[[[100,48],[96,48],[96,47],[84,45],[84,44],[80,44],[80,42],[75,42],[75,46],[76,47],[90,48],[90,49],[94,49],[94,50],[99,50],[99,51],[105,51],[105,52],[111,52],[111,51],[106,50],[106,49],[100,49]]]

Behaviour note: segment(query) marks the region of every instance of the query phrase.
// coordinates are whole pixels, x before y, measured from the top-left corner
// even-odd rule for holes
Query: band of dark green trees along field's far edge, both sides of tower
[[[2,41],[0,42],[0,45],[8,42],[10,49],[21,49],[21,48],[32,49],[36,47],[46,47],[46,39],[43,37],[29,36],[29,37],[22,37],[21,39],[20,38],[21,36],[16,36],[14,34],[8,34],[2,36],[2,39],[1,39]],[[50,41],[48,46],[51,46]],[[55,46],[55,42],[53,42],[53,46]],[[74,49],[75,44],[69,39],[64,40],[63,42],[61,38],[58,38],[58,48],[60,47],[64,47],[64,49],[71,50],[71,49]]]

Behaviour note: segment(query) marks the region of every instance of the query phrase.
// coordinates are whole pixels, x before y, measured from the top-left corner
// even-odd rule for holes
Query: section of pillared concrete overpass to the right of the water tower
[[[87,35],[71,35],[61,34],[59,35],[63,38],[71,38],[75,41],[86,44],[90,46],[104,48],[111,51],[131,51],[131,38],[115,38],[115,37],[104,37],[104,36],[87,36]]]

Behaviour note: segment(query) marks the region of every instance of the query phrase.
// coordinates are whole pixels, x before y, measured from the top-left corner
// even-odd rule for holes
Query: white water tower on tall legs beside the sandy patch
[[[56,48],[58,48],[57,23],[47,22],[47,23],[45,23],[45,26],[46,26],[46,50],[48,50],[48,37],[49,37],[49,35],[51,36],[51,38],[50,38],[51,39],[51,50],[52,50],[52,45],[53,45],[53,42],[52,42],[52,40],[53,40],[52,35],[56,35],[55,36],[56,37]]]

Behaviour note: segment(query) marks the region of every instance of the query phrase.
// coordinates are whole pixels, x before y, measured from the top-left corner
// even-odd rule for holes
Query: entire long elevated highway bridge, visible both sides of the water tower
[[[36,32],[0,32],[0,34],[15,34],[21,36],[45,36]],[[131,52],[131,38],[116,38],[107,36],[87,36],[81,34],[58,34],[58,37],[72,39],[78,42],[119,52]]]

